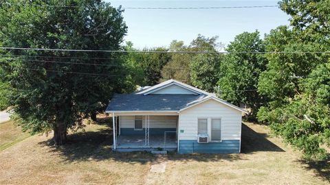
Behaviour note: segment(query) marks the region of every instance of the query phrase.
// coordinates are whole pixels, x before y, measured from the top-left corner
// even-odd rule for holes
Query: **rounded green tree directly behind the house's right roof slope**
[[[217,82],[219,97],[239,106],[245,103],[250,109],[250,119],[255,121],[256,112],[265,102],[265,97],[256,91],[259,75],[265,71],[267,60],[261,53],[265,45],[259,32],[244,32],[230,42],[226,51],[232,52],[225,56],[220,67],[220,79]]]

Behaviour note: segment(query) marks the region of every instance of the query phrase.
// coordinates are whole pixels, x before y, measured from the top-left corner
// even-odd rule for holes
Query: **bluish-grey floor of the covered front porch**
[[[117,146],[118,149],[176,149],[177,138],[176,136],[167,136],[164,145],[164,135],[152,135],[149,138],[149,145],[144,143],[144,136],[118,136]]]

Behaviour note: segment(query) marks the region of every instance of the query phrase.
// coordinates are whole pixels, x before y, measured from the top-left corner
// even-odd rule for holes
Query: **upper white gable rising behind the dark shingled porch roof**
[[[149,94],[173,94],[173,95],[208,95],[206,91],[200,90],[199,88],[195,88],[193,86],[189,86],[188,84],[184,84],[182,82],[178,82],[175,79],[170,79],[161,84],[157,84],[148,88],[146,90],[142,90],[137,95],[149,95]]]

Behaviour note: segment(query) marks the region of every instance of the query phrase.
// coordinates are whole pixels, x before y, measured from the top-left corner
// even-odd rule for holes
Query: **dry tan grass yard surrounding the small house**
[[[17,131],[1,127],[1,134]],[[6,131],[7,130],[7,131]],[[263,125],[243,125],[242,153],[153,156],[113,153],[111,130],[88,125],[64,147],[31,136],[0,151],[0,184],[329,184],[329,162],[311,164],[272,138]],[[6,133],[7,134],[7,133]],[[9,133],[8,133],[9,134]],[[1,136],[2,143],[2,136]],[[152,171],[157,164],[164,173]]]

